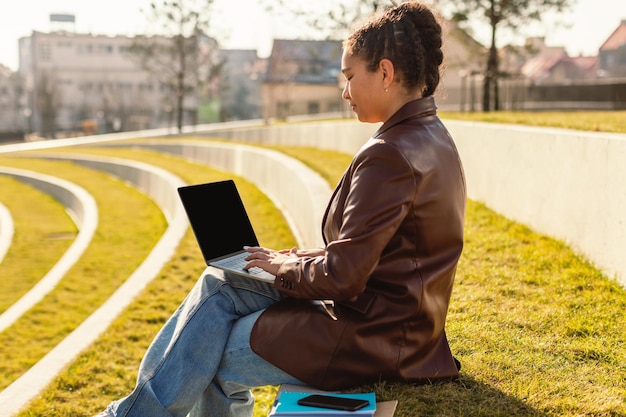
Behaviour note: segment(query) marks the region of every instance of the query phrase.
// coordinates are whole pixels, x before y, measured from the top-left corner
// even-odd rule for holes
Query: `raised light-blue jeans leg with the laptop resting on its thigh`
[[[207,268],[148,348],[133,392],[106,413],[186,416],[214,379],[233,325],[280,298],[269,284]]]

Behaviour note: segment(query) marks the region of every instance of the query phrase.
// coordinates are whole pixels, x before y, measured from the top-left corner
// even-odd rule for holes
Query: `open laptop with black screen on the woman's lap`
[[[243,247],[259,242],[233,180],[179,187],[178,195],[207,265],[274,282],[261,268],[243,269],[249,255]]]

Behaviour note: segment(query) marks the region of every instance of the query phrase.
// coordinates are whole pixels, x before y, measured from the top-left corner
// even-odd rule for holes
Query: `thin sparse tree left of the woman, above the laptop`
[[[146,17],[159,35],[138,36],[128,49],[141,67],[173,95],[176,126],[182,131],[185,98],[214,79],[221,68],[217,41],[208,36],[213,0],[150,3]],[[194,106],[193,115],[197,111]]]

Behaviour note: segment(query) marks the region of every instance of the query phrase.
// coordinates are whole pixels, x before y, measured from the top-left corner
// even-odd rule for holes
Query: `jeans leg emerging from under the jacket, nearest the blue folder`
[[[215,378],[189,417],[250,417],[254,406],[250,388],[304,384],[250,348],[250,332],[261,313],[242,317],[234,324]]]

